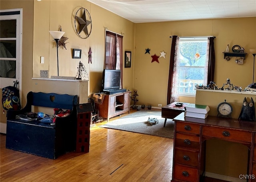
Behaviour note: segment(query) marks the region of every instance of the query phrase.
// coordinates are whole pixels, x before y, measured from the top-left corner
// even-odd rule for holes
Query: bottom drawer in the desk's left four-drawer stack
[[[198,170],[196,168],[182,166],[174,163],[173,180],[186,182],[198,182]]]

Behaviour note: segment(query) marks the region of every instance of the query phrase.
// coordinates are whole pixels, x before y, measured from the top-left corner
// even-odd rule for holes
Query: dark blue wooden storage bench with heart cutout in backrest
[[[29,92],[24,108],[8,110],[6,148],[50,159],[75,151],[78,96]],[[57,117],[55,126],[40,121],[16,119],[16,115],[32,111],[32,106],[72,110],[66,117]]]

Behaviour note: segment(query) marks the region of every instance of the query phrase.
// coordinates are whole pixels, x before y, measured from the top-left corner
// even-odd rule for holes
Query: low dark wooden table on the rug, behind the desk
[[[178,102],[173,102],[171,104],[168,104],[167,106],[162,107],[162,117],[164,117],[164,127],[166,124],[167,119],[173,119],[177,115],[181,114],[182,112],[185,112],[184,107],[187,106],[190,103],[183,103],[182,106],[177,107],[175,104]]]

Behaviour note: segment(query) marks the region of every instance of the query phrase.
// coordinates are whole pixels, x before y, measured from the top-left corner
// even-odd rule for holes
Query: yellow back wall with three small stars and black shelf
[[[134,89],[138,90],[139,104],[166,105],[167,86],[170,63],[170,47],[172,35],[184,36],[209,36],[214,35],[215,48],[215,75],[214,82],[219,88],[226,79],[230,78],[232,84],[245,88],[252,83],[253,56],[249,49],[256,48],[256,18],[228,18],[209,20],[189,20],[158,23],[135,24],[135,65]],[[237,65],[236,57],[230,61],[224,59],[222,52],[227,44],[230,51],[233,45],[244,47],[246,59],[244,65]],[[150,49],[150,55],[145,54],[145,49]],[[151,55],[160,56],[160,52],[167,53],[166,59],[160,57],[159,63],[151,63]],[[255,74],[255,73],[254,73]],[[256,76],[256,74],[255,74]],[[194,98],[181,97],[180,102],[192,102]]]

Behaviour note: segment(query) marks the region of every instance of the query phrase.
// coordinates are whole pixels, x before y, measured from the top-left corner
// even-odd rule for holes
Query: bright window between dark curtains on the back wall
[[[180,37],[176,57],[179,95],[195,95],[195,86],[207,84],[208,37]]]

